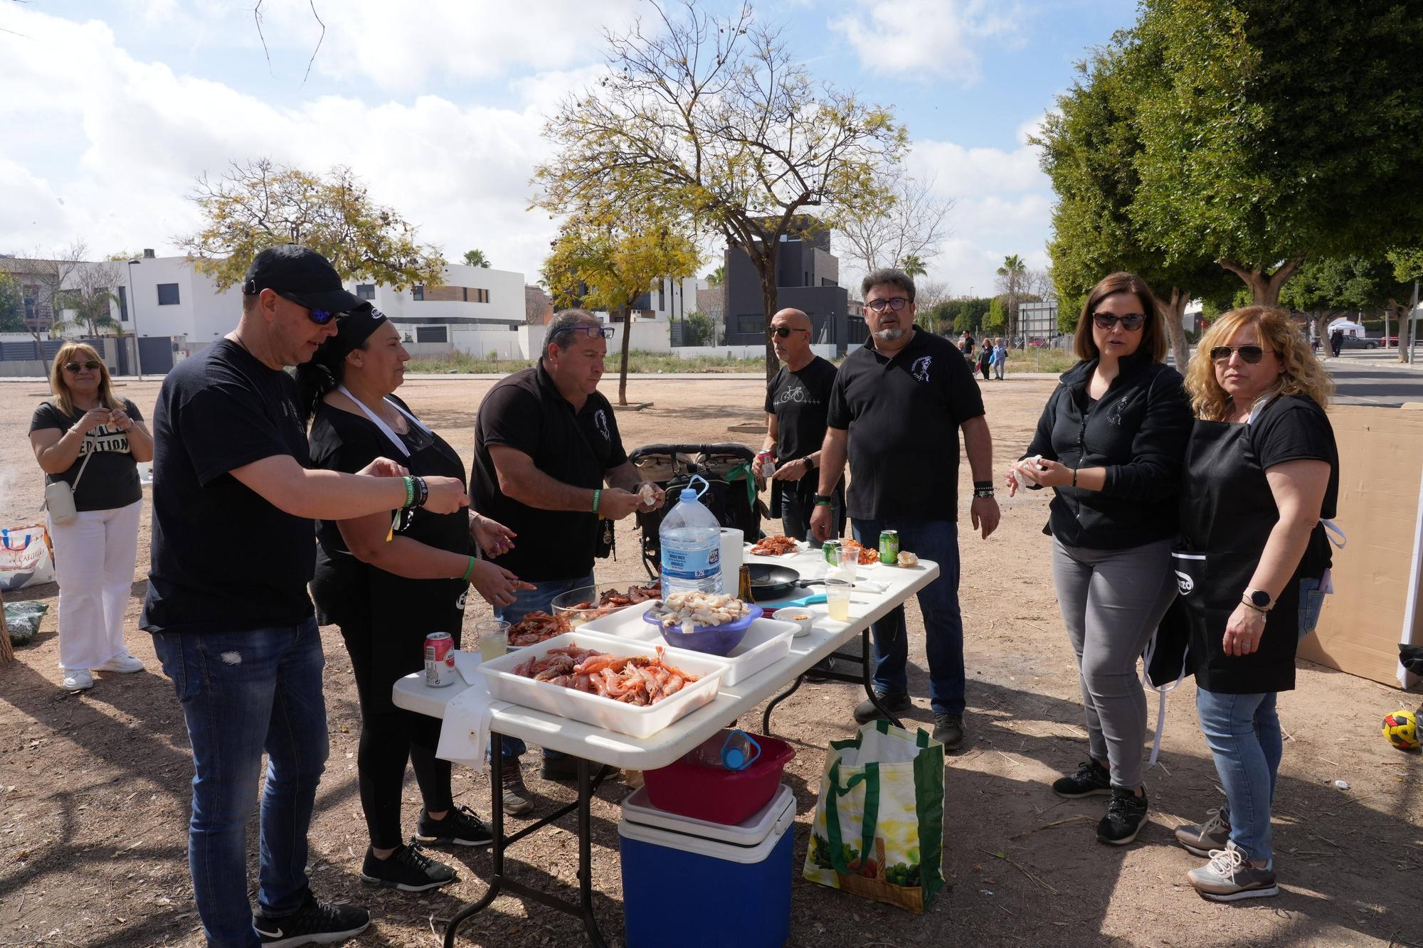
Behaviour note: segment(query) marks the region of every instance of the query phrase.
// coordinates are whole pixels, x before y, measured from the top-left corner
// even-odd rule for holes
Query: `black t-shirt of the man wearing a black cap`
[[[313,522],[229,474],[277,454],[310,467],[287,373],[228,339],[168,373],[154,411],[154,539],[141,628],[245,632],[312,615]]]

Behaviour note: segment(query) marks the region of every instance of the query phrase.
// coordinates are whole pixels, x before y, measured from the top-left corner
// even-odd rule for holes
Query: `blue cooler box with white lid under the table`
[[[744,823],[657,810],[646,790],[618,823],[628,948],[780,948],[791,934],[795,794],[781,784]],[[673,934],[675,932],[675,934]]]

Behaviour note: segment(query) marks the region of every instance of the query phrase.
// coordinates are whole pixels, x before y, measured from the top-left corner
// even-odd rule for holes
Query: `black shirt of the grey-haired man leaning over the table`
[[[515,534],[514,549],[494,562],[521,579],[579,579],[593,569],[598,518],[592,510],[538,510],[505,497],[490,446],[511,447],[534,458],[555,481],[599,488],[609,468],[628,460],[613,409],[595,391],[579,411],[544,370],[544,363],[515,372],[490,389],[474,424],[474,508]]]

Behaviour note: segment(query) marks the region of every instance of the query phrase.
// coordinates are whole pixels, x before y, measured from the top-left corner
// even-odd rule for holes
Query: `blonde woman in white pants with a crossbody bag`
[[[73,488],[73,521],[55,524],[54,575],[60,584],[60,666],[64,688],[94,688],[91,670],[141,672],[124,648],[124,611],[138,557],[144,488],[138,463],[154,458],[154,438],[128,399],[117,399],[108,369],[84,343],[68,343],[50,369],[54,399],[30,420],[30,446],[46,484]]]

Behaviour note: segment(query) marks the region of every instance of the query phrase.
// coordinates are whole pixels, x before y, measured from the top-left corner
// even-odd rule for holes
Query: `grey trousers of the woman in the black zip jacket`
[[[1136,790],[1147,734],[1137,659],[1175,595],[1171,542],[1086,549],[1053,539],[1053,582],[1077,655],[1091,756],[1107,762],[1111,786]]]

